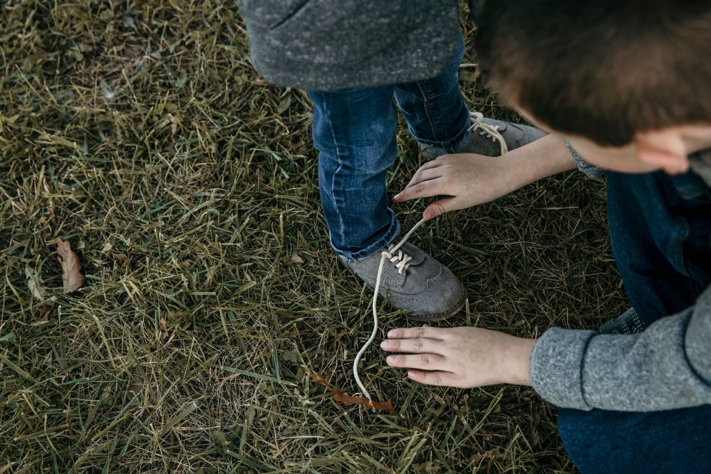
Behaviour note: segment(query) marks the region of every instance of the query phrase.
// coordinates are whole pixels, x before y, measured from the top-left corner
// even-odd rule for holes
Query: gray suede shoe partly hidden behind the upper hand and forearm
[[[470,116],[469,143],[459,153],[501,156],[545,136],[545,132],[533,126],[486,119],[479,112],[471,112]],[[447,154],[447,151],[439,146],[426,146],[422,149],[422,159],[426,161],[444,154]]]

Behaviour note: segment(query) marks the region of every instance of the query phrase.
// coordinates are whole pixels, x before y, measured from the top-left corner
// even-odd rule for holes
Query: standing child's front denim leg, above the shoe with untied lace
[[[397,156],[392,86],[309,91],[309,97],[331,247],[350,262],[364,259],[400,232],[385,194],[386,171]]]

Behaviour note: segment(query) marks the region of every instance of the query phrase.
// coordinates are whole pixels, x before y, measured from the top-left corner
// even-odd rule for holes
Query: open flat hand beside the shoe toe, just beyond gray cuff
[[[471,388],[492,384],[530,385],[528,367],[535,339],[482,328],[399,328],[380,348],[390,367],[410,367],[407,377],[428,385]]]

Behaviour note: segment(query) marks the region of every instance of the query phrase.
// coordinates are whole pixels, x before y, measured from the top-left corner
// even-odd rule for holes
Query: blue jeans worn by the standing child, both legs
[[[385,176],[397,157],[397,112],[419,144],[447,153],[469,141],[469,110],[459,90],[459,53],[432,79],[336,92],[309,91],[314,102],[314,146],[331,247],[349,262],[365,259],[400,233],[387,205]]]

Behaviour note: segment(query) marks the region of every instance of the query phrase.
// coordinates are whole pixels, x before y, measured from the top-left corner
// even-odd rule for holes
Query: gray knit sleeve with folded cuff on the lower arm
[[[530,357],[533,388],[567,408],[655,411],[711,403],[711,287],[642,333],[547,330]]]

